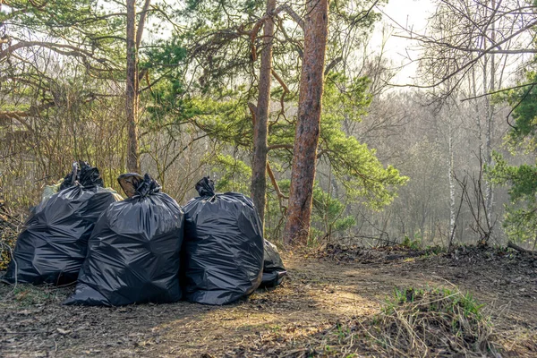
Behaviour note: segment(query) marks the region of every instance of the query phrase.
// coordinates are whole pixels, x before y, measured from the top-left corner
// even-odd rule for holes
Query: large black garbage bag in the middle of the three
[[[98,219],[76,290],[64,304],[179,301],[183,211],[147,174],[121,175],[118,181],[130,198],[110,205]]]

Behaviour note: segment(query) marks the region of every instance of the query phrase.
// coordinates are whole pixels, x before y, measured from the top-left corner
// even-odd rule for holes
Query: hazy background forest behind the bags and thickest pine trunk
[[[266,237],[281,242],[303,3],[136,3],[0,1],[4,214],[23,221],[80,158],[116,190],[118,175],[149,172],[180,204],[204,175],[218,191],[261,188]],[[426,30],[394,30],[418,64],[402,87],[397,64],[369,46],[384,3],[328,5],[308,243],[532,247],[537,4],[435,0]],[[256,187],[263,118],[266,187]]]

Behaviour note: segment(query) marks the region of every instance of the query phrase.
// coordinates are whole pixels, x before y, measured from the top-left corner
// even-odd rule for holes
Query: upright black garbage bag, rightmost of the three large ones
[[[184,211],[183,294],[191,302],[226,304],[260,286],[263,233],[251,199],[237,192],[214,192],[203,178],[200,197]]]

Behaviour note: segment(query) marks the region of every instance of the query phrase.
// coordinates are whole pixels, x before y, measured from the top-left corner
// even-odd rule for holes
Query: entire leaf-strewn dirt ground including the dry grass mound
[[[72,287],[0,285],[0,356],[472,357],[496,348],[536,357],[537,266],[471,259],[360,264],[284,252],[283,286],[224,307],[64,307]],[[413,289],[387,303],[396,286]],[[430,289],[440,286],[450,290]]]

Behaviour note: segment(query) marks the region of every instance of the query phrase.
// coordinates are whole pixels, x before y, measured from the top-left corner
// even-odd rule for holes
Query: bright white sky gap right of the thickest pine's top
[[[389,0],[388,4],[380,8],[382,21],[379,22],[371,39],[371,47],[379,51],[383,40],[384,52],[395,66],[405,65],[393,80],[397,84],[413,83],[413,76],[417,64],[408,64],[407,57],[417,56],[412,49],[411,41],[405,38],[396,38],[390,34],[400,33],[400,27],[412,28],[415,32],[423,33],[427,19],[434,11],[434,4],[430,0]]]

